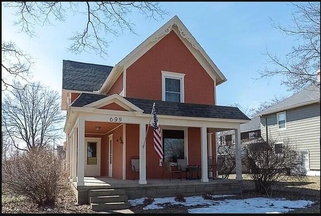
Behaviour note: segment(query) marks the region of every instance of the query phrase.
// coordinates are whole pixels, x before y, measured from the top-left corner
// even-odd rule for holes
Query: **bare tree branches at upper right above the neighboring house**
[[[272,25],[286,35],[294,36],[300,42],[293,46],[283,58],[272,54],[268,56],[274,68],[265,67],[259,71],[259,78],[282,76],[281,83],[288,90],[297,92],[316,83],[316,71],[320,69],[320,2],[292,3],[293,25],[287,27],[272,22]],[[318,86],[319,87],[319,86]]]

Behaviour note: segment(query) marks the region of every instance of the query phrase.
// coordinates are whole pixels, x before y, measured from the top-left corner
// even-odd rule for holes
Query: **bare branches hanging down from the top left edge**
[[[15,24],[21,31],[35,36],[35,27],[52,24],[53,19],[65,21],[71,12],[86,18],[83,28],[69,37],[69,50],[74,53],[94,50],[101,57],[107,55],[108,34],[119,35],[124,30],[135,33],[128,17],[139,12],[148,19],[163,18],[168,12],[154,1],[15,1],[7,2],[5,7],[13,7],[17,20]]]

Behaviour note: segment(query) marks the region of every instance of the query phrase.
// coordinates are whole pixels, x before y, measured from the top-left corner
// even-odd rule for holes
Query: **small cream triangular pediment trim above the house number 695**
[[[131,102],[129,102],[128,100],[126,100],[125,98],[123,98],[122,96],[120,96],[117,93],[114,93],[110,96],[107,96],[107,97],[97,100],[95,102],[89,103],[87,105],[84,105],[83,107],[100,108],[100,107],[103,107],[103,106],[111,104],[111,103],[116,103],[128,111],[143,112],[143,110],[141,108],[132,104]]]

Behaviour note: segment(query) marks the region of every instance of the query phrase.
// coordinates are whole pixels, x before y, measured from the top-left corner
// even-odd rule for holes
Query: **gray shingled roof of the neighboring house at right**
[[[310,86],[282,100],[281,102],[278,102],[275,105],[267,108],[266,110],[257,113],[255,116],[284,111],[286,109],[295,108],[295,107],[299,107],[299,106],[303,106],[311,103],[316,103],[319,101],[320,101],[320,83],[318,82],[316,85],[311,84]]]

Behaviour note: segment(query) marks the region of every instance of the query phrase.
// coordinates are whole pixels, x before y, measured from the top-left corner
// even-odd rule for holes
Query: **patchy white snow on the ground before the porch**
[[[215,198],[231,195],[212,195]],[[283,213],[293,208],[302,208],[313,204],[310,200],[287,200],[285,198],[255,197],[246,199],[210,200],[202,196],[187,196],[186,202],[175,201],[175,197],[154,198],[151,204],[143,209],[164,208],[160,204],[183,204],[185,206],[205,205],[204,207],[191,208],[189,213]],[[142,204],[145,197],[129,199],[131,205]]]

